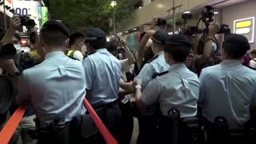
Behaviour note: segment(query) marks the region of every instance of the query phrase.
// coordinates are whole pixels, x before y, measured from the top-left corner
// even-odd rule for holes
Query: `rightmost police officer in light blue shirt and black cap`
[[[221,116],[228,126],[243,128],[250,118],[254,118],[250,111],[254,112],[256,104],[256,71],[242,65],[250,43],[240,34],[230,34],[222,46],[223,61],[203,69],[199,78],[202,84],[199,103],[211,142],[218,140],[212,138],[210,128],[215,118]]]

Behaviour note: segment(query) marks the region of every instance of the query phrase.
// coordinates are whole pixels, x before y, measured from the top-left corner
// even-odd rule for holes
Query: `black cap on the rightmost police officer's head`
[[[234,49],[250,50],[248,39],[241,34],[229,34],[223,44],[224,46],[229,45]]]

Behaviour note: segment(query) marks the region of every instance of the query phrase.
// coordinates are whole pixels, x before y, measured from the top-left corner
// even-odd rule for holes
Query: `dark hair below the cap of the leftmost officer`
[[[68,36],[60,30],[42,30],[42,39],[48,46],[64,46],[67,38]]]

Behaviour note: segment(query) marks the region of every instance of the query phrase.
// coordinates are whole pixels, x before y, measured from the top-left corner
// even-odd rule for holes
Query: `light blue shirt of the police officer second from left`
[[[106,49],[96,50],[83,60],[86,71],[86,89],[90,104],[97,106],[118,98],[121,64]]]

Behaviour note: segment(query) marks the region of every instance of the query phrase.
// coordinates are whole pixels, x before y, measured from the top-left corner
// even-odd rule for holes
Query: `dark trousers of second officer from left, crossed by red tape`
[[[121,141],[121,122],[122,122],[122,112],[118,105],[118,102],[111,102],[104,106],[94,108],[97,112],[99,118],[102,119],[102,122],[105,124],[110,133],[116,138],[119,142]],[[98,131],[97,134],[94,134],[90,138],[84,138],[82,143],[86,144],[101,144],[106,143],[102,134]]]

